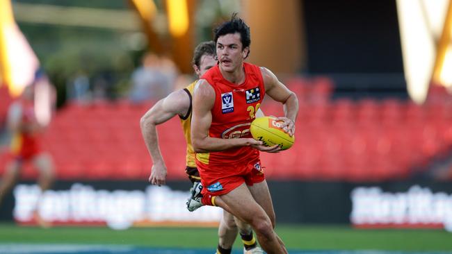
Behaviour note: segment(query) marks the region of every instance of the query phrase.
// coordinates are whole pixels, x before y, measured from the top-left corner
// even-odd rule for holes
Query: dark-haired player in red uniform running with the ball
[[[202,203],[218,205],[250,223],[266,253],[287,253],[274,231],[275,212],[259,151],[277,152],[252,139],[250,124],[264,95],[284,105],[283,127],[295,131],[298,99],[275,74],[244,62],[250,53],[250,28],[232,19],[215,29],[218,65],[197,83],[191,138],[200,171]]]

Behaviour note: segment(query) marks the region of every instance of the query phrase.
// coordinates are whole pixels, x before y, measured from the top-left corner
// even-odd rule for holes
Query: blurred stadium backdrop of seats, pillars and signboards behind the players
[[[167,187],[147,183],[139,120],[195,80],[194,47],[239,12],[248,61],[300,102],[294,146],[261,155],[278,223],[452,228],[452,1],[0,0],[0,10],[0,173],[8,107],[42,76],[35,113],[56,170],[40,197],[26,164],[2,221],[37,225],[38,200],[52,226],[218,225],[216,208],[186,211],[179,120],[158,127]],[[271,100],[261,108],[283,114]]]

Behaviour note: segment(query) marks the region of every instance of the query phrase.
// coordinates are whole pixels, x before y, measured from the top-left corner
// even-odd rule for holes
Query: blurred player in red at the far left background
[[[44,126],[35,116],[34,88],[34,85],[26,86],[19,99],[14,101],[8,110],[7,125],[13,134],[11,141],[13,160],[8,163],[0,181],[0,204],[17,182],[25,162],[33,162],[35,168],[39,170],[38,185],[41,193],[49,189],[54,181],[54,164],[51,156],[40,147],[39,136]],[[38,203],[35,205],[38,208]],[[49,223],[42,221],[37,211],[35,219],[41,226],[50,226]]]

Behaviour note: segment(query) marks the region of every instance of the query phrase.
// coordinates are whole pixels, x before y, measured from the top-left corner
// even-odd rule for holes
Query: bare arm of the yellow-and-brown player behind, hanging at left
[[[140,119],[141,133],[153,162],[149,177],[152,185],[166,183],[166,165],[161,155],[156,126],[163,124],[175,115],[184,116],[188,112],[188,108],[190,108],[188,94],[184,90],[177,90],[158,101]]]

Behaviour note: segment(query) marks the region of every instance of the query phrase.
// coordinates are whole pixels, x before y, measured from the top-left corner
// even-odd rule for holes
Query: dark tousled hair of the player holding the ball
[[[248,46],[248,54],[250,53],[251,35],[250,26],[248,26],[243,19],[237,17],[237,12],[232,14],[231,20],[220,24],[220,26],[213,29],[215,34],[215,43],[218,37],[227,35],[229,33],[240,33],[240,40],[242,42],[242,50]],[[246,57],[248,57],[248,54]]]

